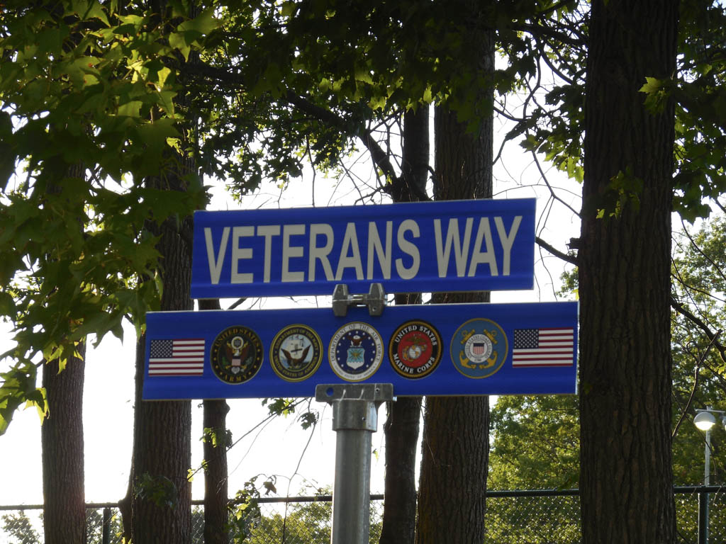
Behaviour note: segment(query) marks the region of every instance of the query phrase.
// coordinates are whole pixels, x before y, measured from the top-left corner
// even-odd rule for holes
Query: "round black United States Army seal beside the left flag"
[[[252,379],[262,366],[263,350],[255,331],[233,326],[214,339],[209,356],[214,374],[222,382],[241,384]]]

